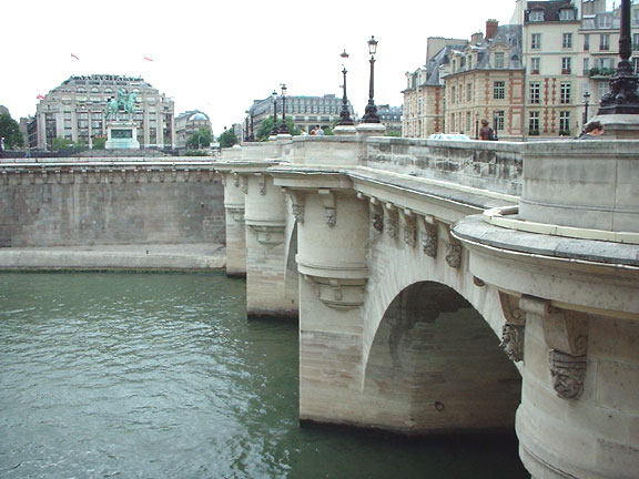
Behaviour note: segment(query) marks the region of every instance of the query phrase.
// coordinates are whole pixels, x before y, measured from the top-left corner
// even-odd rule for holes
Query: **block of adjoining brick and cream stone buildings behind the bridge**
[[[426,64],[406,74],[404,136],[474,137],[486,118],[505,140],[557,139],[576,136],[596,114],[619,61],[619,9],[606,11],[605,0],[515,3],[510,24],[488,20],[485,38],[427,45]],[[639,2],[631,28],[639,71]]]

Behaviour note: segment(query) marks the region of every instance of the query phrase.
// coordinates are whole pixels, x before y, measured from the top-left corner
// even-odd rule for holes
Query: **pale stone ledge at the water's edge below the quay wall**
[[[211,243],[0,248],[0,271],[214,271],[225,266],[224,245]]]

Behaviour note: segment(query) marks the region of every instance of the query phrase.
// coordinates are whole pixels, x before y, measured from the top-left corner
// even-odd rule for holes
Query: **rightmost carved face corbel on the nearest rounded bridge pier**
[[[523,296],[519,307],[540,317],[544,339],[550,349],[550,375],[557,396],[579,399],[588,364],[588,317],[582,313],[564,310],[547,299]]]

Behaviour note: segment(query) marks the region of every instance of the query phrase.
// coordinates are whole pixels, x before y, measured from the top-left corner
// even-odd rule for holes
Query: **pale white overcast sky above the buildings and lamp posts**
[[[207,113],[219,135],[281,83],[292,95],[341,98],[346,49],[348,99],[363,114],[372,34],[375,102],[400,105],[404,73],[424,64],[428,37],[467,39],[514,9],[515,0],[9,1],[0,104],[18,120],[73,74],[141,75],[174,99],[176,114]]]

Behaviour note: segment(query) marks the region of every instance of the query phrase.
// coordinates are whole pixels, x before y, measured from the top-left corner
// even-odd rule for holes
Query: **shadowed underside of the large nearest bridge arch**
[[[520,388],[517,368],[479,313],[453,288],[418,282],[379,322],[363,397],[374,398],[382,428],[485,432],[513,430]]]

